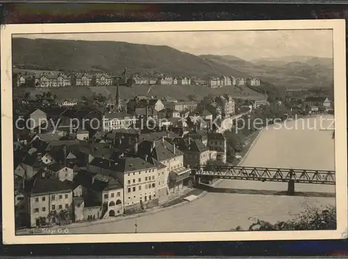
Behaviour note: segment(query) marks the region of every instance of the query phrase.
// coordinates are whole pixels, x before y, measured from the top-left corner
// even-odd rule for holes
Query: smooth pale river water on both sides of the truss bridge
[[[265,128],[241,164],[334,170],[333,117],[324,115],[300,120],[287,122],[281,128]],[[330,126],[331,130],[323,130]],[[237,193],[209,192],[177,208],[136,219],[74,227],[69,233],[134,233],[135,223],[138,233],[228,231],[236,226],[247,228],[251,224],[250,217],[275,223],[296,217],[305,206],[335,205],[335,198],[330,195],[274,195],[274,192],[286,191],[287,183],[224,180],[216,187],[237,189]],[[296,183],[295,191],[334,193],[335,186]]]

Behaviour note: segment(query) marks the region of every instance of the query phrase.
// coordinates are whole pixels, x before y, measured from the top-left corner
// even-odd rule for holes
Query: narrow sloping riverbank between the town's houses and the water
[[[261,129],[259,131],[255,131],[254,133],[252,133],[251,135],[248,135],[248,137],[246,137],[246,140],[244,141],[244,148],[243,151],[240,152],[240,154],[243,156],[242,160],[236,160],[234,163],[230,164],[230,165],[239,165],[241,164],[244,159],[246,158],[246,156],[248,156],[248,152],[250,151],[250,149],[252,149],[253,145],[255,144],[255,142],[258,140],[258,137],[260,137],[260,134],[262,133],[264,129]],[[218,186],[221,182],[223,181],[223,179],[219,179],[217,181],[215,181],[214,183],[212,183],[212,187],[216,187]],[[151,214],[155,214],[158,212],[162,212],[164,210],[171,210],[173,208],[177,208],[180,206],[184,206],[188,203],[193,203],[195,201],[197,201],[198,199],[205,197],[206,194],[208,194],[209,192],[207,192],[206,190],[201,190],[201,189],[192,189],[189,192],[185,192],[184,194],[182,194],[180,197],[177,197],[175,199],[173,199],[172,201],[166,201],[166,203],[162,204],[161,206],[157,207],[157,208],[152,208],[151,210],[145,211],[145,212],[139,212],[137,214],[134,215],[121,215],[119,217],[113,217],[113,218],[109,218],[109,219],[101,219],[101,220],[96,220],[94,222],[77,222],[77,223],[72,223],[70,225],[67,226],[51,226],[49,227],[50,230],[54,231],[56,229],[65,229],[65,228],[80,228],[83,226],[91,226],[91,225],[99,225],[99,224],[107,224],[107,223],[111,223],[111,222],[120,222],[122,220],[126,220],[126,219],[136,219],[138,217],[143,217],[146,215],[151,215]],[[184,198],[188,197],[189,195],[195,195],[197,198],[194,199],[193,201],[185,201]],[[47,229],[48,227],[42,227],[42,228],[26,228],[26,229],[22,229],[20,231],[16,231],[16,235],[30,235],[30,234],[45,234],[42,229]],[[51,232],[52,233],[52,232]]]

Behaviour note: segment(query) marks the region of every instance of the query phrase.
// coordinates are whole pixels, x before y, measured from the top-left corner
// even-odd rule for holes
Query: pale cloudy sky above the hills
[[[333,57],[331,30],[70,33],[17,37],[166,45],[194,55],[232,55],[244,60],[282,56]]]

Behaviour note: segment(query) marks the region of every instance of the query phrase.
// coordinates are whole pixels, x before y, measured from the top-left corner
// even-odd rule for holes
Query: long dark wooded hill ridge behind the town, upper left
[[[171,76],[235,74],[230,67],[167,46],[81,40],[13,38],[13,65],[26,69],[101,71]]]

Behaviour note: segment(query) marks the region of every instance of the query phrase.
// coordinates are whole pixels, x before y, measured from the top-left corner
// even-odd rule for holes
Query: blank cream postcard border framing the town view
[[[335,172],[337,230],[335,231],[241,231],[207,233],[131,233],[74,235],[15,235],[13,199],[13,34],[116,33],[160,31],[261,31],[332,29],[335,91]],[[345,19],[238,22],[134,22],[100,24],[1,25],[1,151],[4,244],[56,244],[102,242],[183,242],[232,240],[320,240],[347,237],[347,100]],[[318,42],[319,44],[319,42]],[[11,162],[10,162],[11,161]],[[10,194],[10,195],[9,195]]]

